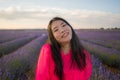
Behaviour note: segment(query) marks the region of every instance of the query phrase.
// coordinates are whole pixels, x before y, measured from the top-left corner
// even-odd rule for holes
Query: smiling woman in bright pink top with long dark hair
[[[49,22],[48,39],[40,51],[35,80],[89,80],[90,55],[65,19],[54,17]]]

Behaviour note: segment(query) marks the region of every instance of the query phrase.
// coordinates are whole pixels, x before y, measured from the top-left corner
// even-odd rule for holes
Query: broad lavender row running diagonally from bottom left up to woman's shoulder
[[[0,59],[0,70],[2,70],[0,77],[2,80],[17,80],[18,77],[20,78],[21,75],[24,75],[25,72],[35,66],[40,48],[46,39],[47,36],[42,35],[17,51],[3,56]]]

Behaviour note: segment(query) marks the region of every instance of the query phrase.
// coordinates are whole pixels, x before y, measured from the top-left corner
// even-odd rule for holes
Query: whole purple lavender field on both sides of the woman
[[[76,30],[90,52],[90,80],[120,80],[120,30]],[[0,80],[34,80],[46,30],[0,30]]]

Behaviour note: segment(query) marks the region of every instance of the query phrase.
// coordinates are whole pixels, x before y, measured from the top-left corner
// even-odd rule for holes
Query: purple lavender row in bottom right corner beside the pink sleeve
[[[94,55],[91,57],[93,72],[90,80],[120,80],[120,74],[109,71]]]

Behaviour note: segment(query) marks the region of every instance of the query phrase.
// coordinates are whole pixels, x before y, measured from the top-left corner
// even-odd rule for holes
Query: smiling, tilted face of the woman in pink
[[[62,20],[56,20],[51,25],[52,33],[58,43],[70,42],[72,30],[68,24]]]

